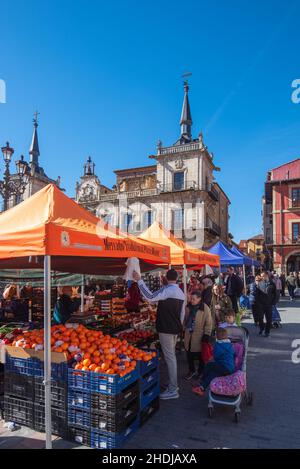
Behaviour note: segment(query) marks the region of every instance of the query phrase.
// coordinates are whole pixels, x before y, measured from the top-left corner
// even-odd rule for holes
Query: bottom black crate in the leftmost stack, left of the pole
[[[6,422],[15,422],[33,428],[33,402],[4,395],[4,417]]]

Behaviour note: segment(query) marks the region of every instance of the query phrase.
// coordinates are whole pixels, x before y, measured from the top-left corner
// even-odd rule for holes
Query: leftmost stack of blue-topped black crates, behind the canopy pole
[[[4,416],[11,421],[45,431],[44,362],[7,355],[4,378]],[[52,363],[52,433],[67,436],[67,363]]]

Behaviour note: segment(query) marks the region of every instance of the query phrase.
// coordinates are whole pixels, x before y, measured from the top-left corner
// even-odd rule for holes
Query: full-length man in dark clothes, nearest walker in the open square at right
[[[271,280],[268,272],[263,272],[262,281],[259,282],[259,294],[257,297],[259,303],[259,335],[269,337],[272,327],[272,308],[276,304],[276,285]],[[264,324],[264,316],[266,324]]]

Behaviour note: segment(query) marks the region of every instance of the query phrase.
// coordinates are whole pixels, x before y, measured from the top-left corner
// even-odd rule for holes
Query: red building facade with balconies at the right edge
[[[263,224],[273,268],[300,271],[300,158],[268,172]]]

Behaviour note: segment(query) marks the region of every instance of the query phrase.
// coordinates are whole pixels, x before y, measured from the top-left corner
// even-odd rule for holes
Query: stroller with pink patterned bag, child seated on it
[[[208,415],[213,416],[214,404],[234,407],[235,422],[240,419],[242,398],[247,405],[252,405],[253,393],[247,390],[246,361],[249,343],[249,332],[245,327],[227,327],[228,338],[235,350],[235,372],[220,376],[210,383],[208,394]]]

